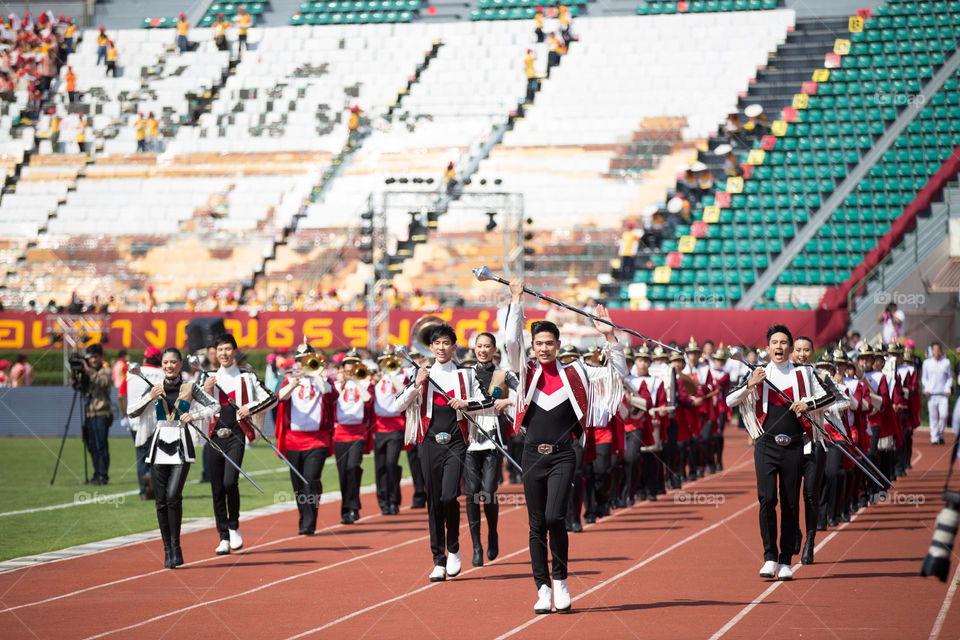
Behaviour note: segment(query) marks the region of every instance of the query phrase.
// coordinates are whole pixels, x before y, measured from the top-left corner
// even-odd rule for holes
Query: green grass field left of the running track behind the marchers
[[[56,462],[59,438],[4,438],[0,440],[0,560],[63,549],[77,544],[157,528],[153,502],[142,502],[134,493],[107,498],[113,494],[137,491],[136,457],[133,441],[110,438],[110,484],[83,484],[83,449],[79,438],[67,438],[56,482],[50,477]],[[404,477],[409,475],[407,456],[401,454]],[[89,460],[88,460],[89,465]],[[281,467],[283,467],[281,469]],[[373,455],[363,459],[363,484],[374,482]],[[240,479],[240,507],[243,510],[290,500],[293,491],[290,473],[266,444],[257,443],[243,459],[243,470],[251,473],[263,494],[245,479]],[[183,492],[184,521],[213,516],[210,485],[197,482],[201,463],[191,466]],[[255,473],[254,473],[255,472]],[[92,477],[92,468],[90,476]],[[327,458],[323,469],[324,491],[339,489],[334,458]],[[37,509],[65,503],[76,506],[50,511],[5,515],[11,511]],[[364,497],[365,515],[377,510],[373,496]],[[291,520],[291,527],[294,522]]]

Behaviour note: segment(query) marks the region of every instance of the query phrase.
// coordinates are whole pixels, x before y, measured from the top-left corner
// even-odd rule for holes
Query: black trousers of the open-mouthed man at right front
[[[790,564],[800,528],[800,474],[803,445],[782,447],[770,436],[761,436],[753,447],[760,501],[760,538],[764,561]],[[780,502],[780,551],[777,552],[777,497]]]

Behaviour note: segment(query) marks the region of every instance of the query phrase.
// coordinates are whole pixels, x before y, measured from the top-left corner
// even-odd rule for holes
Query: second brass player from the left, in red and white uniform
[[[373,420],[373,394],[369,376],[357,377],[361,359],[351,349],[340,361],[337,374],[336,418],[333,427],[333,452],[340,477],[340,522],[353,524],[360,519],[360,480],[363,454],[369,450]]]

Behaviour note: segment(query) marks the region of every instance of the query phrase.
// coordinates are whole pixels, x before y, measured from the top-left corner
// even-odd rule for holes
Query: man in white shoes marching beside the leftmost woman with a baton
[[[252,371],[237,367],[237,341],[225,333],[215,340],[220,368],[204,382],[204,391],[220,404],[220,417],[210,428],[210,441],[219,445],[230,459],[240,466],[247,441],[253,442],[256,431],[248,424],[255,420],[262,425],[265,412],[277,402]],[[235,410],[224,394],[239,407]],[[261,426],[262,428],[262,426]],[[220,544],[217,555],[236,551],[243,546],[240,536],[239,472],[228,465],[219,453],[210,452],[210,490],[213,493],[213,515],[217,521]]]

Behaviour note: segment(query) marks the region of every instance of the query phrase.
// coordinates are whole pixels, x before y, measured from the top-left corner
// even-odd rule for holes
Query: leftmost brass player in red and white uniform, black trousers
[[[317,508],[323,494],[320,476],[327,456],[333,452],[336,393],[329,381],[303,371],[301,362],[313,354],[313,347],[306,341],[297,347],[293,372],[280,383],[277,393],[277,448],[307,479],[304,484],[290,471],[302,536],[313,535],[317,529]]]

